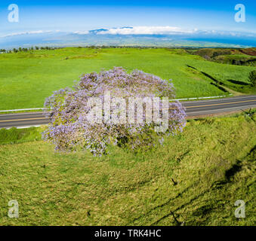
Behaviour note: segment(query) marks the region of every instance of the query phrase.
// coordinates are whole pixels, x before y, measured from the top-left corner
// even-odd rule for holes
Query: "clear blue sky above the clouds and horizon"
[[[20,8],[20,22],[8,23],[8,5]],[[246,22],[236,23],[235,5],[245,5]],[[84,31],[122,26],[174,26],[256,32],[255,0],[215,1],[6,1],[0,2],[0,34],[36,30]]]

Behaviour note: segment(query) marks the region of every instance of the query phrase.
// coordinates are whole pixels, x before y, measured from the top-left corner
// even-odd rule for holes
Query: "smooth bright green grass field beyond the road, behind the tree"
[[[73,81],[79,80],[83,73],[113,66],[122,66],[128,71],[140,69],[172,79],[177,98],[225,94],[211,84],[210,78],[191,72],[187,66],[207,72],[227,84],[230,84],[229,79],[248,83],[248,74],[255,69],[211,63],[186,50],[69,47],[6,53],[0,55],[0,110],[42,107],[45,98],[54,90],[72,87]]]

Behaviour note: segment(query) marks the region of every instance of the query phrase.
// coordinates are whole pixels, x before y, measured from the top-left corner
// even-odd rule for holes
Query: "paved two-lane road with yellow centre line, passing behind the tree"
[[[187,108],[188,116],[217,114],[256,108],[256,96],[238,96],[225,99],[209,99],[193,102],[182,102]],[[0,114],[0,128],[36,127],[48,124],[49,120],[42,112],[22,114]]]

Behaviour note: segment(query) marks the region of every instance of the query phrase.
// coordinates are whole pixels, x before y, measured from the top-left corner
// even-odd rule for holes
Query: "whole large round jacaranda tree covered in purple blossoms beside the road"
[[[166,97],[174,99],[171,81],[142,71],[129,74],[115,67],[82,75],[72,89],[55,91],[46,99],[51,123],[43,136],[57,151],[102,155],[109,145],[134,151],[150,148],[154,140],[161,143],[185,125],[180,102],[168,102]]]

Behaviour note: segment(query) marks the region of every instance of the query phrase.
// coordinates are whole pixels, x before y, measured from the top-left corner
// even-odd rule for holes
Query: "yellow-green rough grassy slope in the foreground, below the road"
[[[255,121],[255,114],[190,121],[140,155],[58,154],[42,141],[0,145],[0,224],[255,224]],[[7,217],[9,200],[18,200],[20,218]]]

